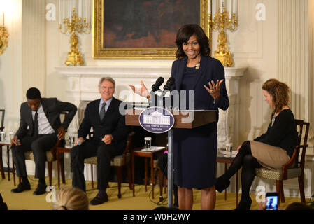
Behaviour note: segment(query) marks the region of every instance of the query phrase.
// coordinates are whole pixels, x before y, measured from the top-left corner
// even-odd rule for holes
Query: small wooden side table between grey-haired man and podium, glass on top
[[[163,146],[152,146],[151,151],[145,151],[144,147],[136,148],[131,152],[132,159],[132,187],[133,187],[133,197],[134,194],[134,156],[144,157],[145,158],[145,191],[147,191],[147,158],[150,158],[150,169],[151,169],[151,179],[152,179],[152,198],[154,198],[154,154],[162,153],[166,148]]]

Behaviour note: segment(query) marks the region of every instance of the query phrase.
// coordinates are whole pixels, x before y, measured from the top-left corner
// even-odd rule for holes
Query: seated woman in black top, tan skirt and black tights
[[[229,179],[242,167],[241,201],[236,209],[250,209],[250,187],[255,178],[255,168],[279,169],[288,162],[299,144],[294,116],[289,108],[289,87],[276,79],[267,80],[262,86],[264,100],[271,107],[271,123],[267,132],[254,141],[244,141],[238,154],[225,174],[217,178],[216,190],[226,189]]]

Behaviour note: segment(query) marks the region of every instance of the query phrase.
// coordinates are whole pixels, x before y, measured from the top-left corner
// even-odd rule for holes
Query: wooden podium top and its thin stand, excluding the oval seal
[[[143,109],[144,110],[144,109]],[[139,116],[141,109],[128,109],[125,115],[125,124],[130,126],[141,126]],[[196,111],[170,111],[174,117],[172,128],[193,129],[215,122],[217,111],[196,110]],[[173,206],[172,187],[173,187],[173,139],[172,130],[168,131],[168,207]]]

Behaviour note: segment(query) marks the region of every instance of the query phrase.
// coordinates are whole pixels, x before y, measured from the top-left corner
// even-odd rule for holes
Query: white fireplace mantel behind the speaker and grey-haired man
[[[71,66],[57,67],[57,72],[66,78],[68,88],[66,95],[78,106],[78,113],[69,127],[69,134],[77,133],[83,111],[87,102],[99,98],[98,82],[101,77],[110,76],[115,80],[115,94],[117,99],[124,102],[145,102],[131,92],[129,84],[140,87],[141,80],[149,88],[158,77],[167,80],[171,76],[171,67],[104,67],[104,66]],[[224,68],[226,87],[229,95],[230,106],[227,111],[220,110],[218,122],[218,148],[224,148],[226,143],[238,144],[238,90],[239,80],[245,68]],[[165,81],[166,83],[166,81]]]

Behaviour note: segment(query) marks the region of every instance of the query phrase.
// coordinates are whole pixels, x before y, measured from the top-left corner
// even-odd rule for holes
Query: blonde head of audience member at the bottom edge
[[[89,202],[86,193],[78,188],[61,188],[56,196],[53,210],[88,210]]]

